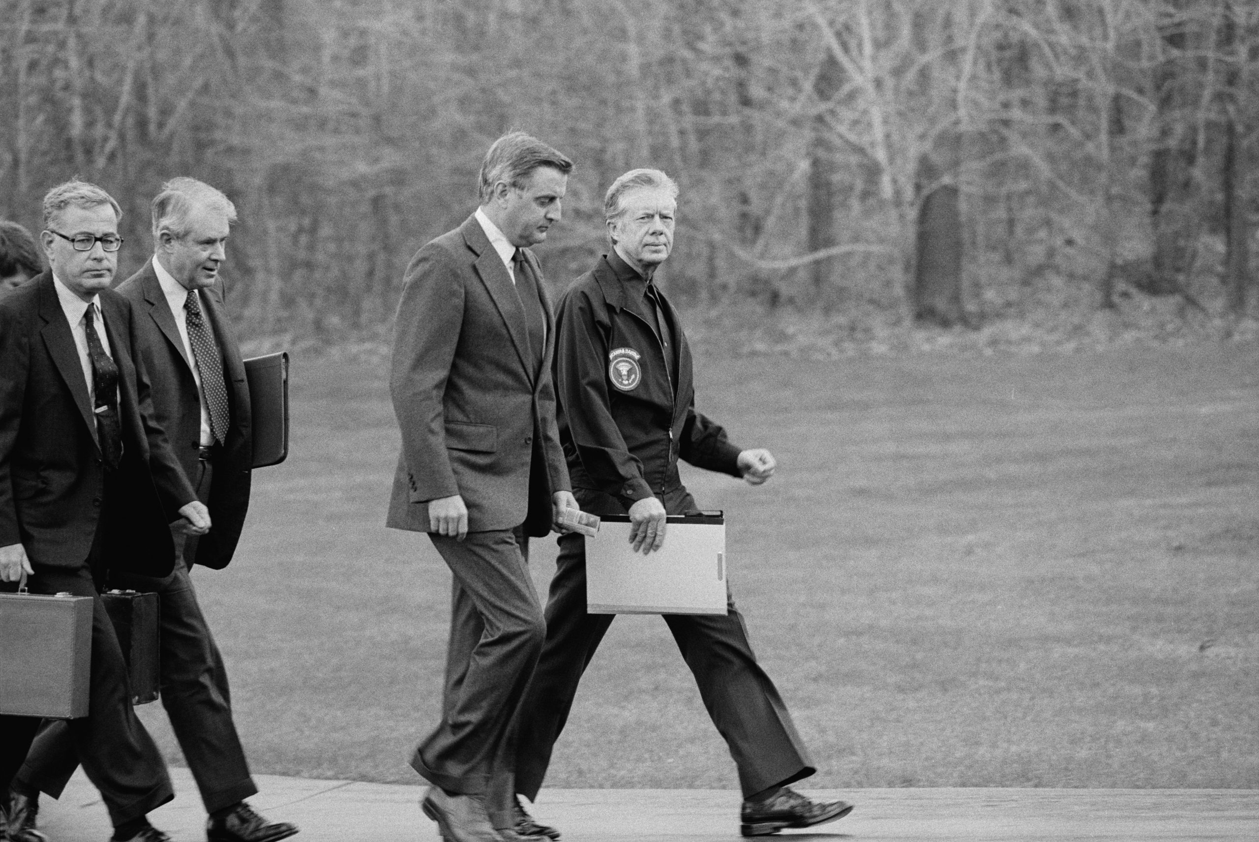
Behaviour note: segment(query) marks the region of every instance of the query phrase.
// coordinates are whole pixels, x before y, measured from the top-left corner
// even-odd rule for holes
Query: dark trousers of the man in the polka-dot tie
[[[198,497],[209,496],[213,474],[200,463]],[[230,807],[258,792],[232,721],[232,699],[223,656],[214,643],[205,615],[196,602],[189,576],[195,539],[176,534],[175,570],[165,578],[111,573],[111,588],[155,592],[160,600],[160,688],[179,748],[196,780],[205,811]],[[26,764],[18,773],[19,784],[59,798],[79,758],[65,722],[44,726]]]

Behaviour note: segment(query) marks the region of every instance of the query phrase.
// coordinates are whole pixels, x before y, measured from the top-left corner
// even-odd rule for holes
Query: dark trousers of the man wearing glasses
[[[50,727],[43,729],[34,736],[34,741],[30,739],[34,735],[30,722],[38,720],[26,719],[23,729],[25,744],[10,746],[10,751],[15,755],[20,751],[25,756],[49,751],[81,760],[83,772],[101,790],[115,826],[140,818],[165,804],[175,797],[166,764],[131,706],[127,665],[89,568],[84,564],[72,571],[37,566],[35,575],[26,584],[31,593],[55,594],[65,590],[76,597],[94,598],[91,697],[86,717],[48,720]],[[30,755],[26,754],[26,746],[30,748]],[[25,783],[23,772],[18,773],[16,780]]]

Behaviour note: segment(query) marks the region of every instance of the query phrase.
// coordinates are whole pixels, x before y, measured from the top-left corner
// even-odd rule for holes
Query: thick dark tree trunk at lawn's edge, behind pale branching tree
[[[914,261],[914,318],[953,327],[966,325],[962,307],[961,195],[954,184],[939,184],[940,169],[929,155],[918,169],[919,190],[927,190],[918,210]]]

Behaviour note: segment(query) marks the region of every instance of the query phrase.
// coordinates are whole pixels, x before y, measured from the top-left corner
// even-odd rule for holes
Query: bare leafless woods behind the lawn
[[[0,216],[72,175],[235,201],[247,332],[388,328],[403,269],[517,127],[577,161],[538,249],[681,184],[667,283],[705,308],[978,327],[1036,302],[1256,310],[1255,0],[0,0]],[[1069,295],[1063,295],[1063,291]],[[1058,291],[1050,295],[1047,291]],[[1047,298],[1046,298],[1047,297]]]

